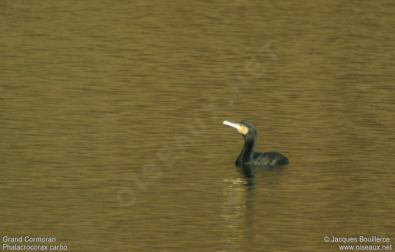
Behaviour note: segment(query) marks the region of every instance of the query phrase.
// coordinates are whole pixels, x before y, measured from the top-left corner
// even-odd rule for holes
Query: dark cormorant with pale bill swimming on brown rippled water
[[[288,159],[278,152],[254,152],[256,142],[256,127],[253,123],[241,120],[236,123],[223,122],[237,129],[244,137],[244,146],[235,162],[236,165],[282,166],[287,165]]]

